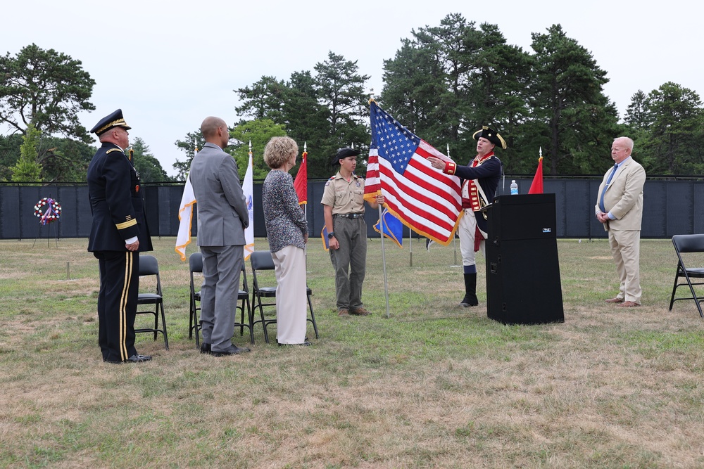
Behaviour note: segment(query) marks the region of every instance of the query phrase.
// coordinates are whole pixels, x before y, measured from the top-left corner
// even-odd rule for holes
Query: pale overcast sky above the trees
[[[0,11],[0,53],[34,43],[81,60],[96,81],[96,110],[80,115],[84,127],[122,108],[130,137],[144,139],[171,175],[185,159],[177,139],[208,115],[239,119],[234,89],[263,75],[287,80],[313,71],[333,51],[357,60],[378,93],[383,60],[401,39],[448,13],[496,24],[508,44],[529,52],[532,32],[559,23],[608,72],[605,94],[621,117],[639,89],[675,82],[704,93],[698,1],[33,0],[4,2]]]

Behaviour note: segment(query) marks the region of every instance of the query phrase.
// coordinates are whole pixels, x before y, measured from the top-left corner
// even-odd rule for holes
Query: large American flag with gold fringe
[[[370,103],[372,144],[365,199],[384,195],[389,212],[410,229],[442,245],[455,236],[462,198],[460,179],[434,169],[427,157],[449,158]]]

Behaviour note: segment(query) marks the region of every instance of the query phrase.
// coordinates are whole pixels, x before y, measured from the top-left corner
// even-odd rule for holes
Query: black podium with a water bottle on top
[[[555,194],[500,195],[486,210],[489,318],[504,324],[564,322]]]

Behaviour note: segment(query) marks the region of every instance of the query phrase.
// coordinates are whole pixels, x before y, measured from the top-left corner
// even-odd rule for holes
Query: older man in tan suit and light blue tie
[[[596,219],[609,233],[611,255],[621,286],[618,295],[606,300],[620,307],[641,305],[640,244],[643,217],[643,184],[646,171],[631,158],[633,140],[614,139],[611,158],[616,163],[604,174],[596,199]]]

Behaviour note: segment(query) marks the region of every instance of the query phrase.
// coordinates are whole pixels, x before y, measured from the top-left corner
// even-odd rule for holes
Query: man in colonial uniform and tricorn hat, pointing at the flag
[[[486,211],[482,210],[494,200],[498,180],[501,178],[501,161],[494,155],[498,145],[505,150],[506,142],[497,131],[482,127],[474,132],[477,141],[477,156],[467,166],[457,165],[453,161],[443,161],[429,157],[428,161],[446,174],[460,177],[462,184],[462,207],[464,214],[460,219],[457,232],[460,236],[460,251],[465,276],[465,297],[460,302],[463,307],[477,306],[477,263],[474,253],[479,249],[482,255],[484,240],[489,226]]]

